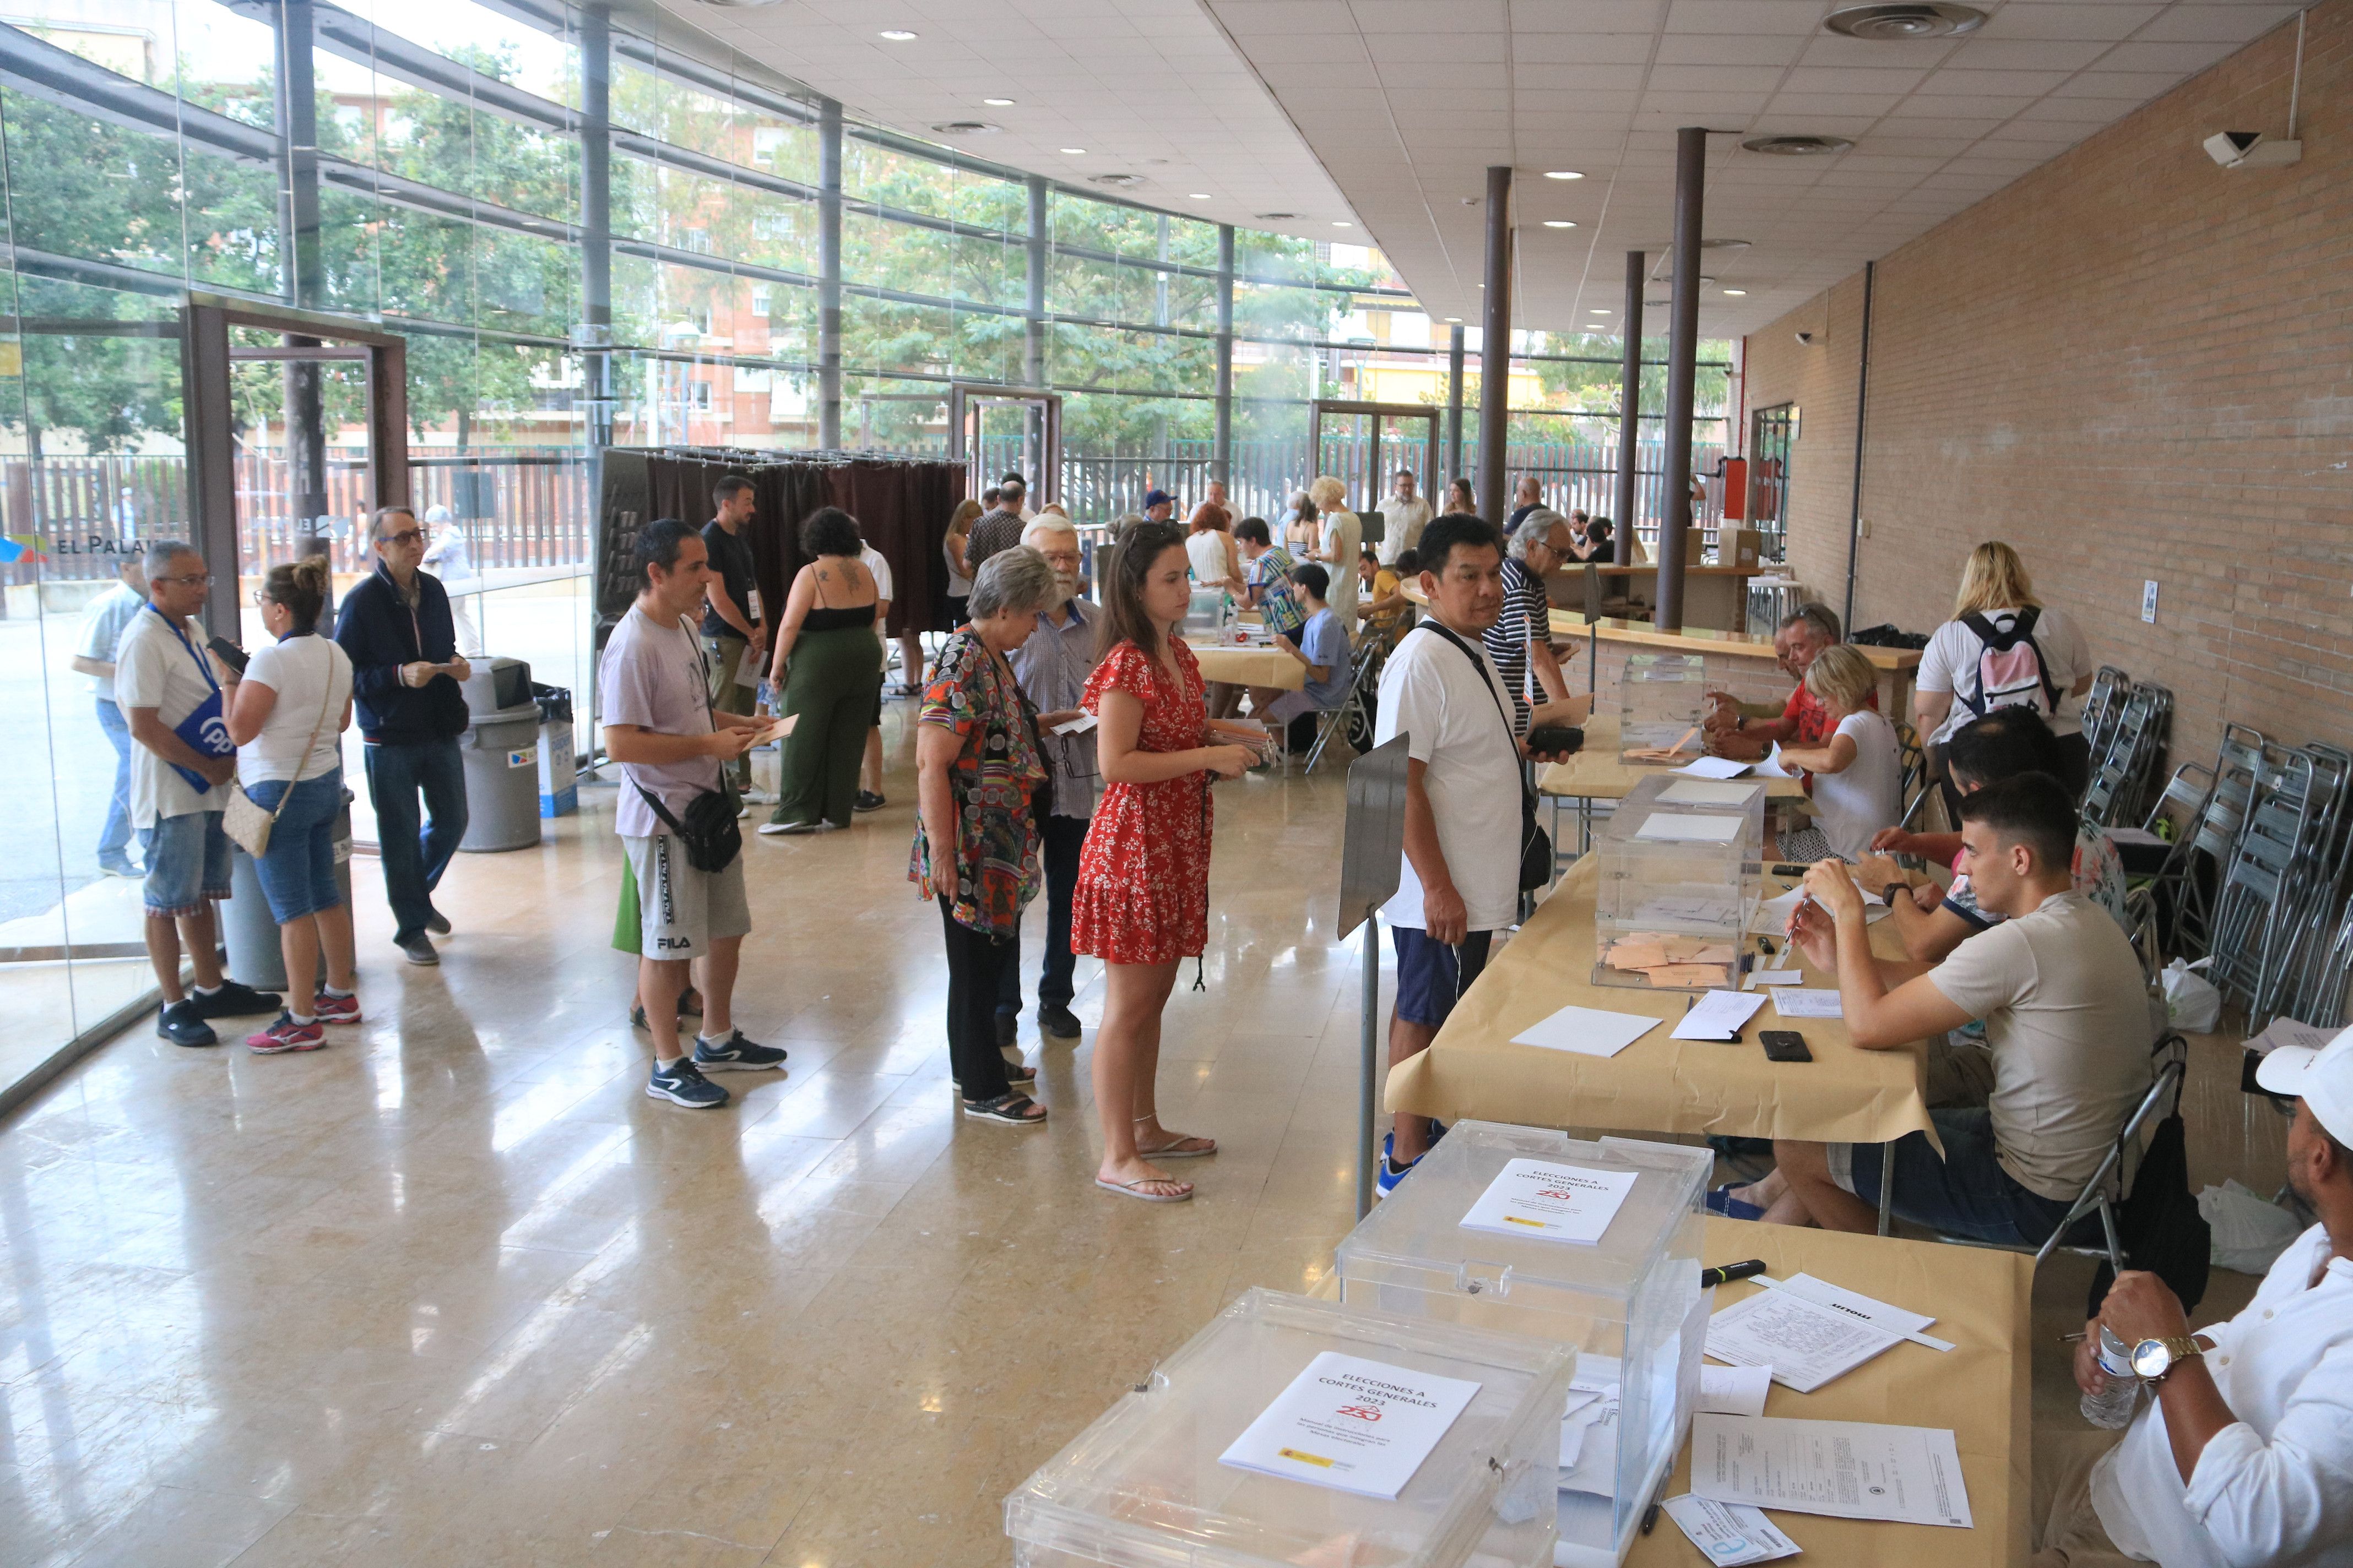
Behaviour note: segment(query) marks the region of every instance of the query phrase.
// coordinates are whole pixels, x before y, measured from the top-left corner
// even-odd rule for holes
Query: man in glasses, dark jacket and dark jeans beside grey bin
[[[466,764],[456,738],[466,733],[459,682],[473,668],[456,651],[449,592],[419,571],[426,531],[416,512],[376,510],[374,543],[376,571],[344,597],[334,639],[351,656],[367,741],[367,797],[376,809],[393,945],[409,964],[440,964],[433,936],[447,936],[449,922],[433,907],[433,889],[466,837]]]

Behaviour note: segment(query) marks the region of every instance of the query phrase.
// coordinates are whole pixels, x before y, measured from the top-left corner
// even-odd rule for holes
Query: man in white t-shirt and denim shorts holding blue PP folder
[[[176,538],[146,550],[148,602],[115,646],[115,705],[132,731],[132,825],[146,860],[146,945],[162,990],[155,1032],[174,1046],[214,1046],[209,1018],[275,1013],[278,997],[221,976],[212,905],[228,898],[228,689],[238,684],[205,646],[212,574]],[[195,992],[181,990],[181,947]]]

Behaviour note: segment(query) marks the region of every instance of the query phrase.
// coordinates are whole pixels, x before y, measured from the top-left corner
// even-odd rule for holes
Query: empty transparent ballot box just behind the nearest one
[[[1567,1568],[1626,1556],[1689,1434],[1711,1166],[1704,1147],[1457,1121],[1334,1253],[1348,1307],[1577,1352],[1555,1455],[1553,1561]]]

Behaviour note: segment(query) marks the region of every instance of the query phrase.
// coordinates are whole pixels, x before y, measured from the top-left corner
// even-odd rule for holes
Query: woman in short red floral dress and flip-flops
[[[1136,524],[1104,583],[1104,661],[1080,698],[1096,715],[1104,802],[1087,827],[1071,896],[1071,950],[1104,959],[1104,1025],[1094,1037],[1094,1110],[1104,1164],[1094,1185],[1151,1204],[1193,1197],[1153,1159],[1217,1154],[1209,1138],[1160,1126],[1160,1009],[1176,964],[1209,940],[1209,780],[1240,778],[1249,736],[1212,722],[1200,663],[1176,637],[1193,588],[1184,531]]]

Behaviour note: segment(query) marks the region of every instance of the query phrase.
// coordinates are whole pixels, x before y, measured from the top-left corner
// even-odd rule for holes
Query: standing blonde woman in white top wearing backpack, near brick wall
[[[2033,708],[2042,715],[2059,736],[2059,759],[2066,766],[2059,780],[2082,795],[2092,778],[2092,748],[2066,703],[2092,689],[2094,670],[2082,630],[2066,611],[2035,597],[2035,583],[2017,550],[1998,538],[1969,550],[1953,618],[1929,635],[1913,689],[1929,778],[1946,788],[1946,804],[1958,813],[1944,743],[1995,708]]]

